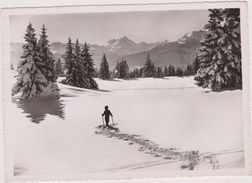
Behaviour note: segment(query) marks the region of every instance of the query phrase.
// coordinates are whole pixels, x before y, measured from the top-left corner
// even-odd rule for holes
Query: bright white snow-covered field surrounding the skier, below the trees
[[[193,77],[96,81],[99,91],[59,84],[59,102],[13,103],[16,175],[98,178],[122,173],[120,178],[126,178],[181,170],[184,162],[95,135],[105,105],[123,133],[141,135],[163,148],[209,153],[220,169],[243,168],[241,90],[209,92],[194,85]]]

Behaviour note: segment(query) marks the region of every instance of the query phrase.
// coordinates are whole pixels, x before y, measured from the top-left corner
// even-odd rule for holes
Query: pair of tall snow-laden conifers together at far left
[[[42,26],[38,39],[35,29],[29,23],[24,39],[23,55],[17,68],[17,82],[12,88],[12,95],[19,94],[21,100],[38,96],[59,97],[55,61],[45,26]]]

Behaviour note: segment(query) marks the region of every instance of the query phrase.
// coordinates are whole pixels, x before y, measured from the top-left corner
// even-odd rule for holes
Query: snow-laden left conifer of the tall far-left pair
[[[44,95],[47,80],[37,68],[37,38],[32,24],[29,23],[25,33],[22,60],[18,65],[17,82],[12,88],[12,95],[20,93],[20,99],[30,99]]]

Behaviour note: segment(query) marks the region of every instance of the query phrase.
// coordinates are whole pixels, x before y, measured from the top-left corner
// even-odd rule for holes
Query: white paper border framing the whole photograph
[[[2,82],[3,82],[3,121],[4,121],[4,145],[5,145],[5,171],[6,181],[61,181],[61,180],[104,180],[120,179],[120,175],[107,177],[102,175],[98,178],[86,175],[60,175],[45,177],[24,177],[13,176],[12,160],[12,139],[11,129],[11,86],[8,82],[10,78],[10,39],[9,39],[9,17],[11,15],[41,15],[41,14],[73,14],[73,13],[90,13],[90,12],[135,12],[135,11],[167,11],[167,10],[197,10],[211,8],[240,8],[241,13],[241,45],[242,45],[242,76],[243,76],[243,123],[244,123],[244,152],[245,152],[245,169],[244,170],[211,170],[211,171],[193,171],[193,172],[168,172],[167,176],[156,175],[147,177],[136,175],[134,178],[167,178],[174,176],[204,176],[204,175],[249,175],[251,173],[251,126],[250,126],[250,65],[249,65],[249,42],[248,36],[248,17],[247,5],[245,2],[193,2],[193,3],[157,3],[157,4],[122,4],[122,5],[82,5],[82,6],[65,6],[65,7],[36,7],[36,8],[11,8],[2,11]],[[56,10],[56,12],[55,12]],[[132,177],[131,177],[132,178]]]

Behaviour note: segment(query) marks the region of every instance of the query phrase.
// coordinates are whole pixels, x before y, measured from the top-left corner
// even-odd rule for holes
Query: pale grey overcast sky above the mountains
[[[43,24],[50,42],[73,40],[106,44],[109,39],[127,36],[135,42],[176,40],[185,33],[200,30],[207,23],[208,10],[22,15],[10,18],[11,42],[23,42],[29,22],[37,34]]]

